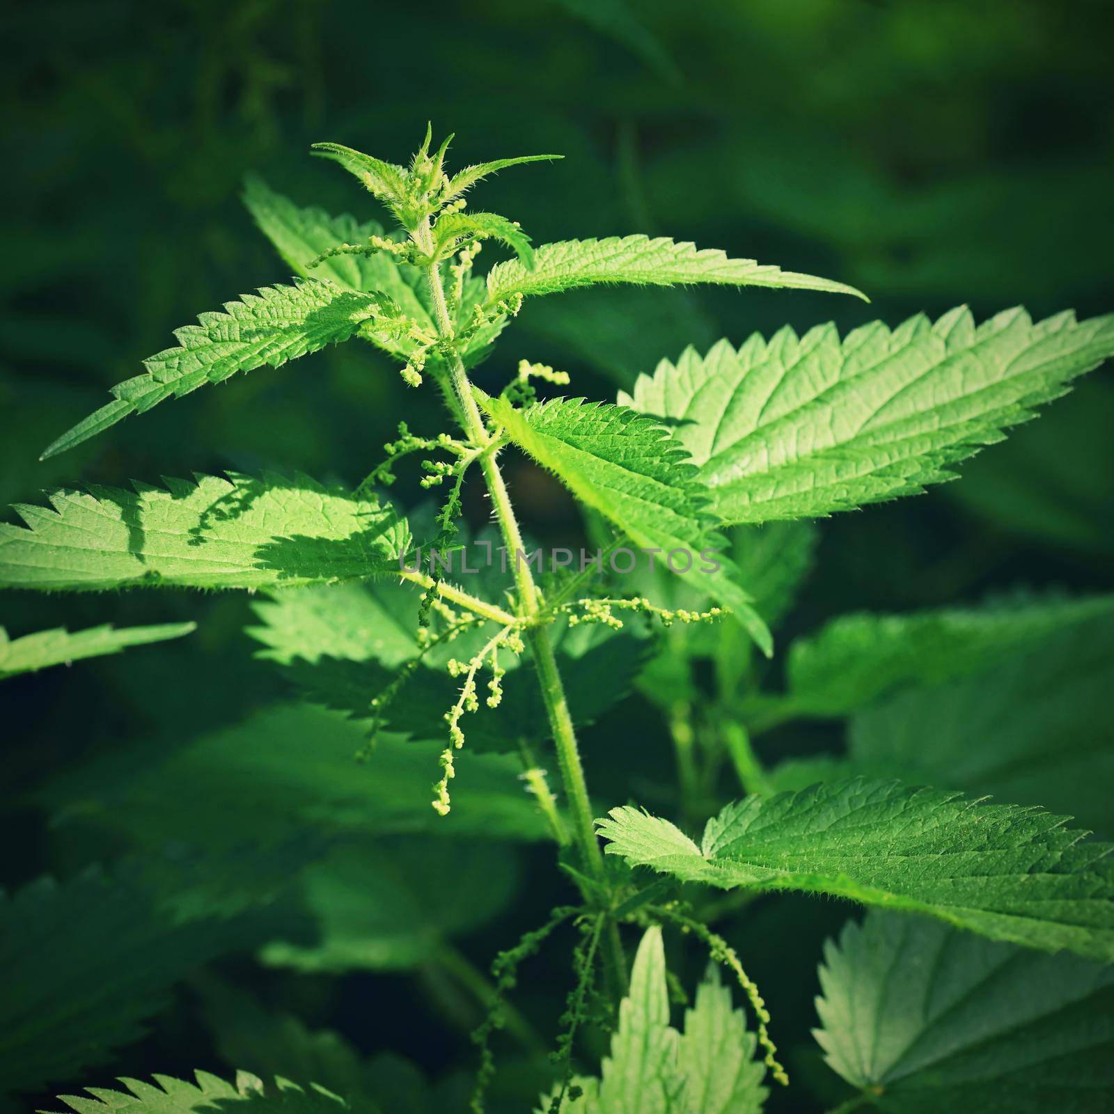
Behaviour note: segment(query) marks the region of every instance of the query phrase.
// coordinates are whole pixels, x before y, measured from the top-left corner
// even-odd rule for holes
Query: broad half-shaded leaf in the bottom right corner
[[[824,1058],[880,1110],[1107,1108],[1108,966],[872,911],[828,942],[820,985]]]

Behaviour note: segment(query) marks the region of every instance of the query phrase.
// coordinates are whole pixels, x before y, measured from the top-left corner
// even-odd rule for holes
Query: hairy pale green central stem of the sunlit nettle
[[[430,235],[429,221],[414,229],[414,241],[418,246],[429,253],[432,248],[432,237]],[[444,300],[444,285],[441,281],[441,272],[437,264],[428,267],[430,296],[433,302],[433,316],[437,324],[438,334],[444,341],[452,340],[452,321],[449,316],[449,307]],[[449,365],[449,375],[452,382],[453,394],[460,407],[460,418],[466,434],[472,444],[480,447],[487,444],[489,436],[483,424],[483,418],[472,394],[471,383],[468,381],[468,373],[465,370],[465,362],[460,353],[451,344],[444,345],[444,355]],[[502,472],[496,462],[494,452],[486,451],[480,455],[480,468],[483,471],[483,479],[487,483],[488,494],[491,497],[491,507],[496,521],[502,534],[504,544],[510,557],[511,568],[515,575],[515,585],[518,588],[518,609],[522,618],[529,624],[537,617],[540,610],[540,596],[530,566],[525,559],[525,545],[522,532],[518,526],[518,518],[507,491]],[[580,762],[580,751],[576,742],[576,731],[573,726],[573,717],[568,711],[568,702],[565,697],[565,687],[561,684],[560,673],[557,670],[557,659],[554,656],[553,643],[549,641],[549,633],[544,626],[529,625],[526,632],[530,652],[534,655],[534,664],[537,668],[538,681],[541,687],[541,695],[545,701],[546,712],[549,717],[549,726],[553,730],[554,743],[557,750],[557,764],[560,768],[561,781],[565,785],[565,793],[568,797],[569,811],[573,821],[573,839],[579,851],[584,868],[590,877],[599,882],[605,880],[604,856],[599,849],[599,841],[596,839],[595,827],[593,824],[592,803],[588,798],[588,786],[584,778],[584,765]],[[616,988],[622,991],[626,985],[626,962],[623,957],[622,942],[618,936],[618,926],[612,924],[608,934],[609,962],[613,968],[612,977]]]

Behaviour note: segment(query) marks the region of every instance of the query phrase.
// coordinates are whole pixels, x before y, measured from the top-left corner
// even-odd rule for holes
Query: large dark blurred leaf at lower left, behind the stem
[[[382,838],[541,840],[544,819],[519,779],[520,763],[473,755],[443,820],[429,808],[439,744],[381,736],[365,763],[363,731],[320,709],[276,704],[243,723],[189,740],[166,754],[140,744],[123,759],[87,763],[43,791],[59,817],[148,847],[203,840],[226,853],[246,841],[307,833]],[[162,792],[169,783],[172,794]]]

